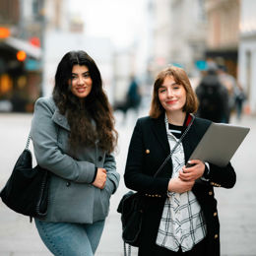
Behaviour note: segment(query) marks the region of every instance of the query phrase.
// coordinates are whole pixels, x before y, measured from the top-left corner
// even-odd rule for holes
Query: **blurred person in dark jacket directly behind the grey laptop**
[[[218,123],[228,121],[228,94],[217,75],[217,66],[209,67],[196,88],[196,95],[199,99],[198,117]]]

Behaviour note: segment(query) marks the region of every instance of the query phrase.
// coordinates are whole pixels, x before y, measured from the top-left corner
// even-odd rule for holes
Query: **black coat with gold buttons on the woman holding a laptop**
[[[186,161],[210,124],[209,120],[195,118],[182,141]],[[139,247],[140,256],[168,255],[167,249],[156,245],[156,239],[167,186],[172,174],[171,160],[167,162],[158,177],[154,178],[153,175],[169,152],[164,115],[162,114],[158,119],[151,117],[138,119],[129,146],[124,180],[128,188],[147,194],[144,197],[145,210]],[[206,255],[218,256],[220,255],[220,224],[213,187],[231,188],[236,178],[230,163],[225,167],[210,163],[210,169],[210,181],[196,181],[192,191],[202,208],[207,224]]]

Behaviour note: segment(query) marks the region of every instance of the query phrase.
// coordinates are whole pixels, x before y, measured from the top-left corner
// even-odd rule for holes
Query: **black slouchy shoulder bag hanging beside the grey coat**
[[[2,201],[13,211],[43,219],[47,214],[48,171],[39,165],[32,167],[32,153],[29,150],[31,135],[27,145],[17,160],[12,174],[0,192]]]

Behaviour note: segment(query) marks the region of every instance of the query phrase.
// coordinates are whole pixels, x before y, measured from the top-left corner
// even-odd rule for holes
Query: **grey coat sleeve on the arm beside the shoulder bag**
[[[57,127],[51,120],[52,111],[46,98],[39,98],[35,102],[31,135],[37,164],[62,178],[91,183],[96,165],[89,161],[74,160],[61,152],[57,146]]]

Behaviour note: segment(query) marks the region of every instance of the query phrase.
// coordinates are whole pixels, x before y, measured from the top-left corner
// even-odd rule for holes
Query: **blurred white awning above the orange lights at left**
[[[36,47],[32,45],[30,42],[15,38],[15,37],[8,37],[5,40],[5,43],[9,46],[18,49],[18,50],[24,50],[29,56],[35,59],[41,58],[41,48]]]

